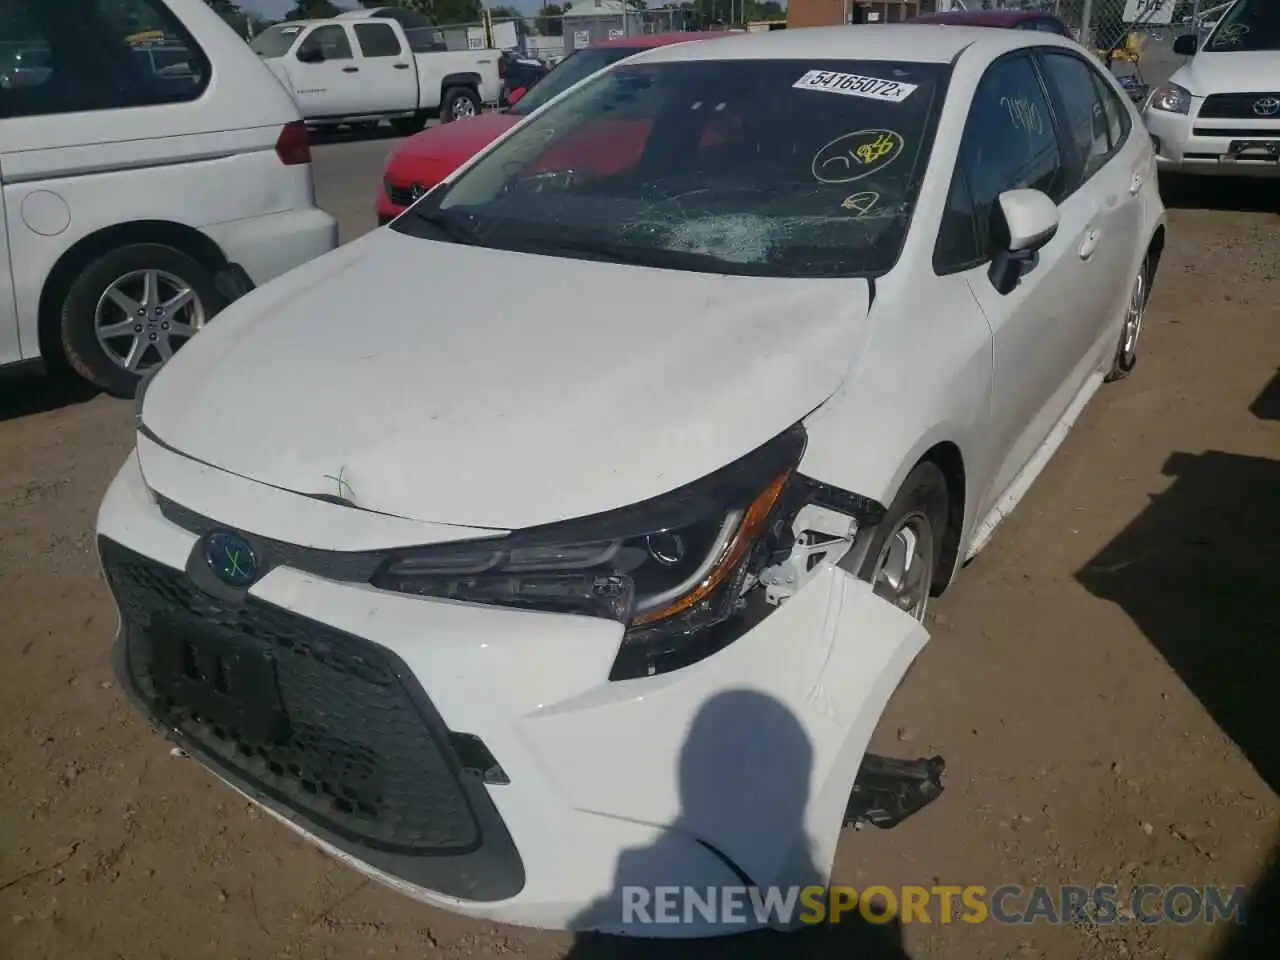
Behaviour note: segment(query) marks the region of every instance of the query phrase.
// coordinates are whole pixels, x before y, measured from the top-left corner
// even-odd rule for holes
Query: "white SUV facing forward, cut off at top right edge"
[[[1198,47],[1198,51],[1197,51]],[[1236,0],[1194,59],[1152,91],[1143,118],[1164,170],[1280,175],[1280,3]]]

